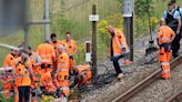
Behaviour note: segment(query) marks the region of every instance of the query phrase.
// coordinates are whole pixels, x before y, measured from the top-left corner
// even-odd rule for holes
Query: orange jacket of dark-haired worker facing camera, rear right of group
[[[71,55],[77,51],[77,42],[74,40],[71,40],[70,42],[64,40],[63,45],[65,47],[67,52]]]

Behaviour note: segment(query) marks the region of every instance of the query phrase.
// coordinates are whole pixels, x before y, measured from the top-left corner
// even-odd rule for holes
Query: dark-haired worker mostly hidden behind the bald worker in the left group
[[[55,33],[51,33],[50,38],[51,38],[51,44],[53,45],[54,51],[55,51],[55,58],[58,58],[58,54],[59,54],[59,53],[58,53],[58,47],[59,47],[60,44],[63,44],[63,41],[58,40]],[[57,69],[57,65],[58,65],[58,61],[57,61],[57,59],[55,59],[55,61],[54,61],[54,63],[53,63],[53,69],[54,69],[54,70]]]

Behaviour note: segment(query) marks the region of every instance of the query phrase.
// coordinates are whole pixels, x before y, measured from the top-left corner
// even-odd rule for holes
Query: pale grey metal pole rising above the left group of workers
[[[49,0],[44,0],[44,21],[49,22]],[[49,23],[44,24],[44,40],[50,40],[49,38]]]

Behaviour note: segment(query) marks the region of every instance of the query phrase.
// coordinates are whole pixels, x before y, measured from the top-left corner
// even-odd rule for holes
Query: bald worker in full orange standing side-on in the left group
[[[69,82],[69,54],[65,52],[63,45],[59,45],[58,69],[55,78],[58,80],[59,89],[68,98],[70,95]]]

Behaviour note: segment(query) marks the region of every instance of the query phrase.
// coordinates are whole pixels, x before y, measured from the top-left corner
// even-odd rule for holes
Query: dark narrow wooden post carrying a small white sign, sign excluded
[[[97,14],[97,6],[92,6],[92,14]],[[92,76],[97,76],[97,21],[92,21]]]

